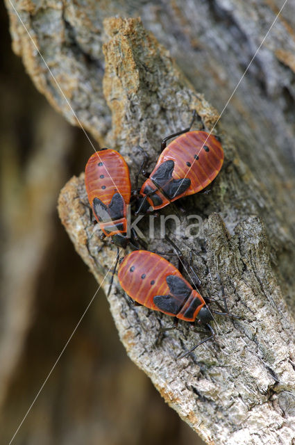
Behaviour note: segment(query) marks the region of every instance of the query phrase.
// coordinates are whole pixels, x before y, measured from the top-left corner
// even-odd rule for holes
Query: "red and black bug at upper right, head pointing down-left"
[[[193,195],[207,187],[221,170],[224,150],[219,138],[189,127],[162,140],[162,153],[155,168],[140,189],[140,204],[135,213],[145,212],[147,202],[153,210],[162,209],[180,197]],[[167,140],[174,139],[169,145]],[[146,202],[147,200],[147,202]]]

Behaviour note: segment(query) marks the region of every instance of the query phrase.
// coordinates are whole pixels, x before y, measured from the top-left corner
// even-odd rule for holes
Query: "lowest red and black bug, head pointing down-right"
[[[235,317],[228,312],[223,286],[225,309],[217,303],[223,310],[217,312],[208,307],[207,302],[212,300],[204,299],[196,290],[196,286],[193,288],[173,264],[154,252],[135,250],[128,254],[121,261],[118,278],[121,287],[130,298],[149,309],[174,316],[175,326],[180,319],[197,321],[208,328],[210,336],[179,358],[185,357],[197,346],[216,335],[210,325],[212,314]],[[162,329],[165,330],[171,330],[171,327]]]

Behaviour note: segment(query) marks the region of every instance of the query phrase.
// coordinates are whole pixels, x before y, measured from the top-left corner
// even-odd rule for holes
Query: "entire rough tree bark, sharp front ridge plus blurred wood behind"
[[[122,6],[119,9],[110,3],[102,9],[95,2],[97,9],[92,10],[93,5],[90,2],[83,8],[80,4],[55,3],[45,10],[31,5],[29,15],[28,3],[24,3],[23,19],[34,30],[61,87],[67,86],[78,118],[98,140],[110,125],[103,118],[108,115],[108,104],[112,132],[104,145],[117,147],[126,156],[133,176],[141,161],[137,145],[149,152],[152,165],[160,139],[185,127],[192,109],[208,129],[212,128],[218,113],[194,87],[222,109],[278,11],[278,4],[273,2],[233,6],[230,1],[187,1],[181,6],[171,2],[160,7],[140,3],[141,10],[136,12],[131,6],[122,10]],[[182,73],[140,20],[106,19],[103,31],[101,19],[111,12],[142,12],[144,24],[171,49]],[[292,17],[292,13],[294,17],[294,6],[287,4],[283,17]],[[44,38],[48,26],[43,26],[49,17],[50,44]],[[180,323],[177,332],[167,334],[155,347],[158,329],[171,323],[169,317],[129,307],[119,286],[110,296],[111,311],[128,355],[208,444],[294,443],[295,326],[290,316],[294,277],[289,272],[294,259],[294,197],[290,188],[294,184],[295,40],[293,24],[283,17],[227,109],[224,131],[217,125],[226,161],[232,163],[225,165],[209,196],[190,197],[183,203],[187,213],[199,213],[204,220],[203,236],[197,242],[183,236],[188,223],[181,217],[183,233],[178,244],[185,252],[192,248],[199,253],[195,264],[203,279],[203,292],[219,292],[218,270],[230,309],[241,320],[218,318],[217,341],[205,343],[189,357],[176,361],[179,353],[196,343],[199,334]],[[43,68],[40,74],[40,60],[13,14],[12,24],[15,49],[24,56],[38,88],[72,119],[48,80],[49,74]],[[60,26],[60,33],[56,33],[56,26]],[[106,102],[101,90],[103,41]],[[58,56],[53,47],[60,50]],[[58,76],[60,73],[63,76]],[[94,109],[97,104],[101,108]],[[115,252],[111,254],[108,247],[100,251],[101,242],[97,234],[92,236],[92,223],[83,205],[86,202],[81,175],[63,189],[60,217],[76,250],[100,282]],[[169,210],[163,213],[168,215]],[[167,249],[159,240],[149,246]]]

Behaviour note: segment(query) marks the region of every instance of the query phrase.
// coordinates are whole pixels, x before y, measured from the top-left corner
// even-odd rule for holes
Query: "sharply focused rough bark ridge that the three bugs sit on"
[[[217,113],[189,87],[166,51],[146,34],[140,22],[110,19],[105,24],[110,41],[104,49],[104,92],[115,122],[110,141],[120,147],[131,167],[133,159],[140,158],[138,144],[154,159],[158,133],[176,119],[183,120],[180,127],[184,127],[190,109],[196,108],[208,127],[212,127]],[[168,123],[160,107],[169,110]],[[278,224],[278,219],[271,212],[268,197],[262,195],[253,175],[239,159],[235,145],[225,135],[223,143],[226,159],[233,163],[224,168],[210,197],[200,200],[196,196],[185,204],[191,212],[196,212],[206,200],[209,202],[210,210],[201,213],[203,217],[211,213],[204,223],[206,252],[196,261],[205,280],[203,289],[209,295],[218,293],[215,278],[218,270],[230,296],[230,307],[242,320],[234,323],[218,320],[217,344],[207,343],[188,358],[176,361],[181,351],[193,346],[199,338],[189,332],[185,323],[180,323],[178,332],[170,333],[160,347],[155,347],[158,329],[171,324],[169,317],[151,314],[145,308],[130,308],[119,288],[110,297],[110,306],[130,357],[151,377],[165,400],[208,443],[257,444],[282,440],[287,444],[294,435],[294,419],[285,420],[282,406],[288,405],[294,394],[291,363],[294,324],[271,268],[271,245],[258,216],[262,213],[259,203],[266,204],[265,219],[272,215],[271,220],[268,218],[270,227]],[[92,227],[83,204],[76,199],[75,208],[69,209],[71,197],[77,195],[87,202],[83,177],[71,180],[61,194],[62,222],[76,249],[100,279],[94,259],[110,266],[114,254],[111,258],[109,252],[98,255],[98,241],[93,236],[86,246]],[[214,213],[217,210],[219,214]],[[165,213],[169,214],[169,210]],[[184,232],[185,218],[181,227]],[[201,248],[182,235],[178,243],[186,252],[192,246],[195,250]],[[150,245],[159,247],[161,241],[151,241]],[[162,245],[161,248],[165,249]],[[271,426],[275,433],[271,432]],[[285,435],[288,437],[284,438]]]

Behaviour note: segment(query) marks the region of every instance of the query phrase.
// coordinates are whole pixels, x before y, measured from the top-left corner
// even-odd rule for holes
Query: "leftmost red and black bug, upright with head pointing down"
[[[85,167],[85,187],[88,200],[104,236],[122,248],[126,237],[126,205],[130,202],[131,184],[128,165],[112,149],[92,154]]]

